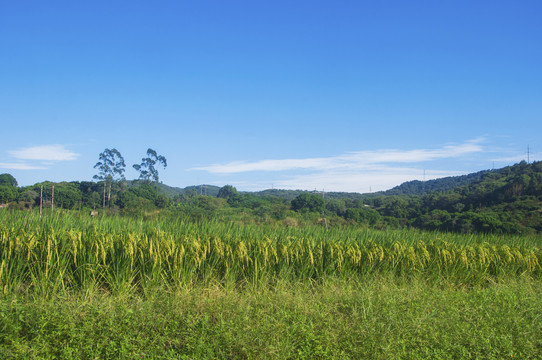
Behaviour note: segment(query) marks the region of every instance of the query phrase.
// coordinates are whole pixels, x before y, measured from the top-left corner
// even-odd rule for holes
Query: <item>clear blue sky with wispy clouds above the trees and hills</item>
[[[5,1],[0,173],[368,192],[541,160],[540,1]]]

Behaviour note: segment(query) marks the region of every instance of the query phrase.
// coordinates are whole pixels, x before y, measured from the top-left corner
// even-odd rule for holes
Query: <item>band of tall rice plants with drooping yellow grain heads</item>
[[[0,292],[148,293],[381,273],[470,286],[539,278],[540,244],[539,237],[3,211]]]

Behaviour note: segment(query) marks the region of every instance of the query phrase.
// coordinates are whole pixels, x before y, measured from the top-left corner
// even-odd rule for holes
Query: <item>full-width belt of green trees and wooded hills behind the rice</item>
[[[430,187],[451,186],[450,178]],[[423,195],[357,194],[342,198],[317,192],[269,190],[238,192],[233,186],[187,187],[172,193],[150,179],[98,182],[43,182],[17,187],[9,174],[0,175],[0,202],[13,210],[40,204],[64,209],[100,210],[130,216],[185,215],[194,220],[224,218],[243,222],[367,225],[376,228],[415,227],[451,232],[535,233],[542,231],[542,163],[517,165],[459,177],[449,191]],[[413,185],[419,184],[412,184]],[[54,186],[54,192],[53,192]],[[405,189],[409,187],[403,187]],[[169,188],[171,189],[171,188]],[[167,194],[167,195],[166,195]],[[295,194],[295,197],[292,196]],[[169,196],[168,196],[169,195]]]

